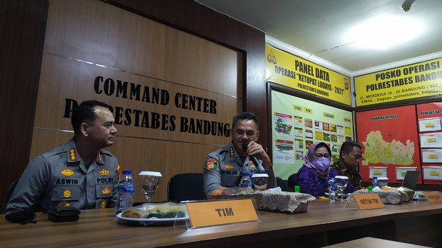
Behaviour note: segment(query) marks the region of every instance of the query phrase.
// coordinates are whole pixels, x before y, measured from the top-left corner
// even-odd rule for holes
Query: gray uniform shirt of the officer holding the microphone
[[[262,161],[260,161],[262,163]],[[233,143],[230,141],[206,157],[204,165],[204,193],[209,194],[219,187],[238,187],[243,172],[257,174],[258,169],[247,156],[242,163]]]

